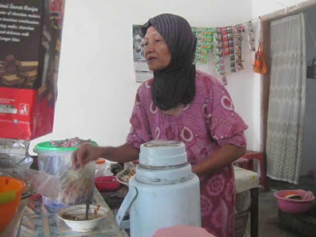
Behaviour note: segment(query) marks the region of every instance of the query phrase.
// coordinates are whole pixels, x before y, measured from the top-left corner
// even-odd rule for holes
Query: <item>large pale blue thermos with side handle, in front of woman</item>
[[[129,210],[129,220],[123,221]],[[153,140],[140,148],[136,174],[116,216],[130,237],[150,237],[160,228],[201,226],[199,180],[182,142]]]

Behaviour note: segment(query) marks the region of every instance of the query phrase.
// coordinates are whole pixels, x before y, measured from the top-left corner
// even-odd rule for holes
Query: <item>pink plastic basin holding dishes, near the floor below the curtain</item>
[[[287,213],[300,214],[305,213],[311,208],[312,201],[315,199],[314,195],[307,196],[304,200],[291,199],[284,197],[289,192],[294,191],[298,193],[302,198],[306,195],[305,190],[281,190],[277,191],[274,195],[277,198],[278,207]]]

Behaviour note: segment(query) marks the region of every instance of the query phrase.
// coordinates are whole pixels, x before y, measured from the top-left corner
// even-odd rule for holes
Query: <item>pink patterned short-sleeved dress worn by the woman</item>
[[[247,125],[234,111],[226,88],[213,76],[196,74],[195,99],[178,116],[167,116],[154,105],[150,86],[143,82],[137,91],[127,142],[139,149],[153,139],[181,141],[188,161],[198,164],[224,144],[246,146]],[[202,227],[218,237],[234,236],[235,181],[233,165],[199,176]]]

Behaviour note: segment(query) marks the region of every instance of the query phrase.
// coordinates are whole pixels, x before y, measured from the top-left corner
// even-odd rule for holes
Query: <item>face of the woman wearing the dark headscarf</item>
[[[145,40],[145,59],[151,71],[158,71],[166,68],[171,60],[169,48],[162,36],[153,26],[147,29]]]

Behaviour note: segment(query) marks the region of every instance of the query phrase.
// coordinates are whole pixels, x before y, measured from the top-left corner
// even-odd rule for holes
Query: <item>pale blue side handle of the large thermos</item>
[[[130,205],[133,203],[135,197],[137,196],[137,190],[134,186],[128,187],[128,193],[124,198],[122,204],[118,209],[118,214],[116,216],[116,221],[118,223],[118,227],[122,229],[129,229],[129,220],[123,221],[124,216],[126,215],[127,210]]]

